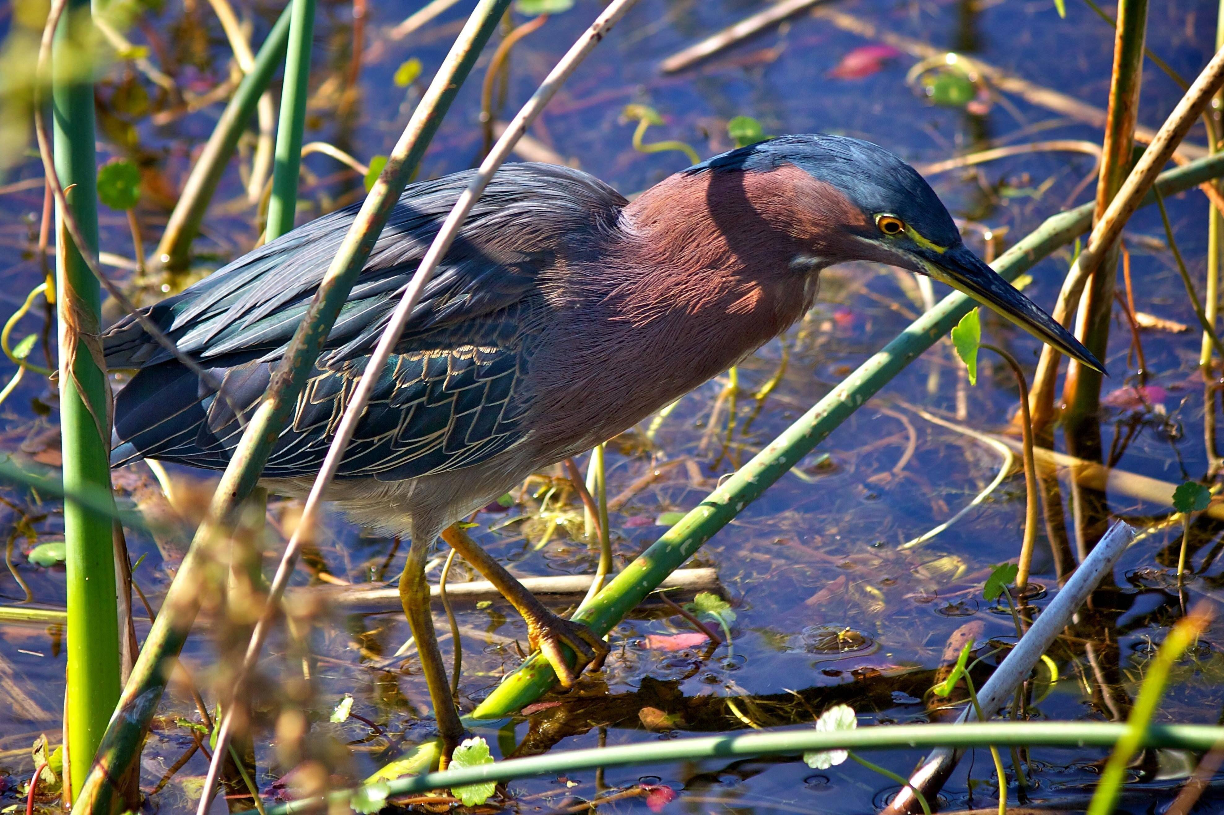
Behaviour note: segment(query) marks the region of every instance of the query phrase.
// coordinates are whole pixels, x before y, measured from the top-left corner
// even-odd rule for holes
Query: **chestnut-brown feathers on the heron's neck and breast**
[[[644,192],[597,259],[562,263],[546,285],[567,319],[563,340],[545,328],[531,363],[545,383],[537,438],[553,454],[590,447],[781,334],[812,306],[823,258],[846,256],[830,241],[863,220],[792,165],[678,174]]]

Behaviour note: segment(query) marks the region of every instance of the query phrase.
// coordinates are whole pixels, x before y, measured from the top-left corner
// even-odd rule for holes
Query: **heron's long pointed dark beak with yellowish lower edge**
[[[925,259],[941,273],[934,277],[960,289],[1072,360],[1106,373],[1105,366],[1071,332],[1059,326],[1037,303],[1012,288],[963,244],[938,257]]]

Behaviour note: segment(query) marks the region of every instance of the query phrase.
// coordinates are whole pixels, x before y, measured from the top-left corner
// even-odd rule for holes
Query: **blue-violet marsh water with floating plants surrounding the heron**
[[[471,2],[460,1],[414,33],[394,39],[390,29],[420,5],[415,0],[319,4],[305,141],[328,142],[361,163],[389,152]],[[517,110],[601,7],[578,0],[514,48],[504,87],[494,88],[493,94],[494,103],[504,100],[502,119]],[[935,51],[955,50],[1034,87],[1056,89],[1103,109],[1113,29],[1081,0],[1067,0],[1066,18],[1060,18],[1053,0],[829,4],[820,9],[842,16],[798,13],[693,67],[674,73],[660,69],[665,58],[761,7],[748,0],[641,0],[557,95],[530,131],[531,137],[624,193],[644,190],[688,164],[679,152],[647,154],[632,147],[635,122],[623,113],[629,104],[649,105],[662,116],[663,124],[646,132],[646,142],[679,140],[703,157],[734,146],[727,122],[736,116],[756,119],[766,135],[819,131],[867,138],[916,165],[1002,144],[1053,140],[1099,143],[1099,126],[1051,113],[1013,93],[980,92],[972,100],[936,104],[920,78],[906,81],[918,56],[883,47],[886,34],[896,34]],[[360,66],[353,59],[355,9],[364,12]],[[236,11],[253,22],[253,39],[259,42],[279,6],[240,0]],[[1212,54],[1215,13],[1215,4],[1206,0],[1152,4],[1148,48],[1181,76],[1193,77]],[[20,24],[18,17],[12,10],[0,10],[0,26],[11,31]],[[525,20],[520,13],[512,17],[515,23]],[[849,31],[854,26],[858,31]],[[137,16],[127,37],[147,45],[148,59],[196,94],[230,76],[225,35],[211,6],[200,0],[152,4]],[[403,80],[414,72],[405,64],[412,59],[420,60],[420,77],[405,84]],[[487,64],[488,58],[482,58],[460,93],[425,158],[421,177],[461,170],[479,160],[483,140],[479,86]],[[1171,78],[1148,62],[1140,122],[1158,127],[1180,93]],[[148,248],[220,109],[220,104],[196,111],[174,109],[131,62],[104,71],[98,84],[99,163],[127,158],[142,168],[137,218]],[[1206,142],[1201,125],[1189,140]],[[193,245],[191,269],[141,280],[133,290],[138,289],[146,301],[253,246],[256,207],[246,196],[239,164],[250,164],[248,143],[214,197]],[[1044,218],[1091,201],[1094,166],[1089,154],[1039,152],[928,177],[960,220],[969,245],[994,257]],[[326,154],[306,157],[304,168],[299,223],[364,195],[362,177]],[[28,158],[0,184],[4,317],[42,280],[37,242],[43,188],[18,184],[40,175],[37,159]],[[1207,201],[1191,191],[1171,197],[1168,207],[1177,246],[1202,291]],[[131,258],[126,217],[103,207],[100,218],[103,250]],[[1133,218],[1126,242],[1136,311],[1166,322],[1141,330],[1147,362],[1147,378],[1141,383],[1131,354],[1131,330],[1115,310],[1105,360],[1111,376],[1105,379],[1099,416],[1103,447],[1119,470],[1170,483],[1197,480],[1211,466],[1204,399],[1208,410],[1218,406],[1197,367],[1198,330],[1170,330],[1177,324],[1195,326],[1195,314],[1154,208]],[[1065,247],[1040,262],[1032,270],[1028,295],[1050,308],[1070,261],[1071,247]],[[133,274],[122,266],[110,270],[121,279]],[[940,284],[935,289],[936,296],[946,294]],[[662,420],[644,422],[613,439],[608,444],[608,494],[627,493],[611,516],[617,568],[922,310],[912,277],[883,267],[835,267],[825,273],[820,301],[812,312],[739,366],[736,394],[728,393],[728,377],[723,376],[682,399]],[[15,338],[40,333],[40,319],[39,300],[18,324]],[[1039,351],[1034,339],[990,316],[984,318],[983,333],[1009,349],[1032,374]],[[43,361],[42,355],[37,346],[32,359]],[[641,360],[640,365],[683,366],[684,360]],[[13,371],[7,360],[0,362],[4,381]],[[1137,384],[1144,388],[1142,396],[1133,389]],[[699,642],[700,638],[692,636],[692,625],[670,608],[646,606],[612,633],[612,656],[602,672],[568,694],[550,695],[525,713],[477,733],[488,740],[494,755],[503,756],[810,723],[838,702],[856,709],[859,726],[940,717],[939,705],[927,690],[945,662],[949,641],[966,635],[983,644],[1015,639],[1006,606],[984,600],[982,584],[994,564],[1018,553],[1024,518],[1022,475],[1012,472],[977,507],[923,545],[902,545],[957,515],[995,478],[1004,466],[1000,452],[967,431],[1005,430],[1016,403],[1015,381],[996,359],[983,354],[978,383],[969,387],[951,346],[936,345],[720,531],[689,564],[717,571],[716,591],[734,611],[731,647]],[[27,377],[0,412],[6,453],[59,464],[56,398],[45,379]],[[1061,432],[1056,443],[1060,448],[1065,444]],[[651,472],[657,477],[644,478]],[[209,474],[171,469],[170,475],[184,496],[202,501],[203,488],[195,485]],[[479,514],[471,532],[518,575],[594,571],[597,551],[585,537],[578,497],[559,481],[559,470],[541,476],[515,489],[509,507],[491,507]],[[140,496],[147,499],[155,485],[141,464],[119,472],[116,483],[121,494],[136,496],[137,503]],[[1065,546],[1080,558],[1093,541],[1077,534],[1076,508],[1069,496],[1064,472],[1070,529]],[[23,602],[28,586],[37,605],[62,607],[62,569],[27,559],[34,546],[62,540],[60,505],[23,488],[6,488],[0,498],[10,563],[9,571],[0,571],[0,600],[6,605]],[[1182,603],[1189,607],[1200,598],[1214,602],[1222,591],[1224,567],[1217,556],[1224,546],[1224,530],[1217,521],[1204,518],[1195,523],[1190,537],[1192,574],[1185,596],[1179,597],[1173,575],[1181,526],[1164,523],[1170,508],[1116,488],[1108,491],[1105,501],[1110,516],[1127,518],[1148,531],[1124,556],[1091,611],[1051,649],[1058,677],[1051,682],[1053,674],[1044,668],[1034,679],[1031,718],[1124,717],[1146,664],[1171,622],[1181,616]],[[266,569],[272,568],[283,546],[282,532],[293,513],[291,504],[273,498],[269,514],[277,524],[264,538]],[[394,580],[399,574],[404,547],[390,538],[362,534],[339,516],[328,519],[321,538],[299,567],[299,586]],[[135,580],[155,607],[181,558],[185,538],[154,540],[133,529],[127,541],[132,559],[141,559]],[[435,581],[439,560],[431,571]],[[1048,602],[1058,589],[1058,576],[1043,525],[1033,575],[1039,589],[1031,602],[1038,607]],[[469,579],[472,574],[463,564],[450,576],[452,581]],[[690,595],[683,600],[692,600]],[[578,600],[554,597],[550,605],[564,611]],[[439,631],[448,631],[441,607],[435,611]],[[459,699],[461,709],[470,711],[521,661],[526,631],[499,600],[458,601],[455,612],[464,645]],[[147,622],[137,625],[140,635],[147,630]],[[215,683],[224,675],[211,631],[209,624],[198,625],[184,653],[209,704]],[[261,683],[253,700],[256,782],[264,800],[288,799],[295,789],[293,776],[286,778],[294,765],[285,764],[286,751],[278,748],[284,733],[278,732],[277,711],[289,704],[286,694],[310,722],[304,749],[327,767],[334,784],[367,776],[427,737],[428,696],[415,650],[395,656],[408,638],[403,616],[389,609],[364,616],[319,613],[300,640],[279,634],[273,639],[261,664],[267,682]],[[308,652],[300,642],[308,644]],[[449,635],[442,647],[449,663]],[[1179,662],[1159,721],[1214,723],[1220,718],[1220,647],[1219,624],[1214,624]],[[28,748],[38,734],[59,742],[64,668],[62,629],[4,625],[0,805],[16,804],[18,798],[24,805],[21,791],[33,770]],[[332,722],[333,710],[346,694],[353,696],[356,716]],[[728,699],[733,704],[728,705]],[[164,783],[159,780],[193,748],[190,722],[198,721],[190,693],[171,684],[141,765],[142,788],[152,792],[160,787],[148,797],[146,811],[186,813],[195,806],[207,766],[202,751]],[[348,745],[348,753],[339,745]],[[1097,749],[1033,749],[1027,765],[1029,802],[1059,811],[1082,809],[1105,755]],[[898,750],[873,754],[871,759],[905,775],[920,756],[917,750]],[[1192,766],[1192,756],[1173,751],[1147,756],[1133,770],[1135,786],[1119,811],[1163,811]],[[662,792],[662,787],[668,791]],[[701,760],[610,768],[599,777],[578,772],[518,781],[483,810],[581,811],[584,802],[608,791],[630,794],[603,804],[603,811],[869,813],[886,803],[897,786],[853,762],[816,771],[798,755]],[[989,754],[979,750],[961,762],[941,793],[941,805],[945,810],[993,808],[995,794]],[[1013,787],[1013,805],[1015,800]],[[1218,811],[1222,802],[1224,798],[1213,798],[1208,789],[1200,806]],[[250,805],[237,798],[235,803],[240,809]],[[427,805],[431,811],[449,806]],[[220,811],[222,804],[217,808]]]

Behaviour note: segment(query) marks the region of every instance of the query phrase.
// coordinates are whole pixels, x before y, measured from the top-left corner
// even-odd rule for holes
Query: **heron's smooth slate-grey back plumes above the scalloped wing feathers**
[[[338,362],[368,352],[471,171],[405,190],[324,344]],[[624,199],[585,173],[548,164],[504,166],[476,203],[409,318],[400,346],[518,302],[558,255],[583,251]],[[258,352],[279,359],[356,217],[348,207],[262,246],[146,313],[201,362]],[[126,316],[103,337],[110,368],[173,359]]]

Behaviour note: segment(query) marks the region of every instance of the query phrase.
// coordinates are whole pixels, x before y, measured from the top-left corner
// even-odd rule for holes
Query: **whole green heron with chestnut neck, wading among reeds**
[[[304,496],[417,263],[468,185],[408,187],[263,472]],[[356,207],[234,261],[146,313],[225,398],[132,317],[106,363],[136,368],[115,406],[114,465],[223,469]],[[918,173],[881,147],[786,136],[743,147],[625,201],[578,170],[503,168],[412,312],[327,497],[359,524],[411,538],[400,578],[439,729],[459,721],[433,635],[424,564],[459,519],[543,466],[632,427],[777,337],[812,306],[820,270],[875,261],[941,280],[1099,370],[1071,334],[961,241]],[[443,537],[523,614],[562,684],[607,646],[548,612],[465,536]]]

